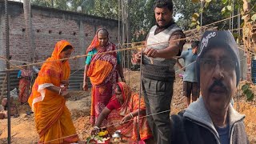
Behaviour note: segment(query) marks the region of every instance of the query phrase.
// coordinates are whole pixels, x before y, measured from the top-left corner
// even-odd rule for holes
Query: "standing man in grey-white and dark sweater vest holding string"
[[[142,50],[142,89],[146,102],[146,114],[154,141],[170,144],[170,102],[173,96],[174,65],[182,52],[185,35],[173,18],[173,3],[156,0],[154,15],[157,22],[146,38],[146,49]],[[141,52],[135,55],[138,62]],[[165,111],[165,112],[164,112]],[[164,113],[160,113],[164,112]],[[160,114],[158,114],[160,113]]]

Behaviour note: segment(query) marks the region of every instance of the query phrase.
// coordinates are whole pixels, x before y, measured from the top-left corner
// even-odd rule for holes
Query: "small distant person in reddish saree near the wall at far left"
[[[21,104],[26,103],[30,96],[30,79],[32,77],[32,71],[27,68],[26,63],[22,64],[22,70],[18,72],[18,100]]]

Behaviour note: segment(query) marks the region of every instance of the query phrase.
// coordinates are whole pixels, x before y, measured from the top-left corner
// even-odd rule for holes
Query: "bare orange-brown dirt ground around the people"
[[[128,78],[130,77],[130,81]],[[139,90],[139,72],[126,72],[127,82],[133,90]],[[90,135],[90,92],[71,91],[72,97],[68,99],[66,105],[72,114],[74,126],[82,140]],[[254,92],[256,94],[256,91]],[[254,98],[255,99],[255,98]],[[250,143],[256,143],[256,102],[246,102],[245,98],[241,98],[238,103],[234,99],[235,108],[241,114],[246,114],[245,124],[246,133],[250,139]],[[239,109],[238,109],[239,106]],[[182,97],[182,78],[176,78],[174,82],[174,98],[171,106],[171,114],[177,114],[184,110],[185,103]],[[34,127],[34,114],[28,116],[25,114],[29,110],[29,106],[19,106],[18,118],[11,118],[11,142],[12,143],[36,143],[38,142],[38,134]],[[7,142],[7,119],[0,120],[0,143]]]

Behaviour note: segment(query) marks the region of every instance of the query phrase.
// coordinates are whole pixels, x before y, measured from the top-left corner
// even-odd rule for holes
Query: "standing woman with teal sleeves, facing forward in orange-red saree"
[[[104,52],[116,50],[116,46],[109,42],[109,34],[106,29],[99,29],[96,32],[93,42],[86,50],[89,54],[86,58],[83,89],[88,90],[87,77],[90,77],[92,84],[90,123],[95,124],[98,114],[102,112],[106,104],[114,94],[114,86],[118,82],[118,74],[125,82],[122,72],[120,54]],[[106,125],[106,120],[102,126]]]

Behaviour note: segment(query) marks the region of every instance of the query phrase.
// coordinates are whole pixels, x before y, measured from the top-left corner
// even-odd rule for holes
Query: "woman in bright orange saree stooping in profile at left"
[[[29,104],[34,111],[39,143],[78,142],[70,111],[66,107],[70,64],[68,60],[59,61],[69,58],[73,50],[70,42],[57,42],[54,52],[42,65],[34,82]]]

